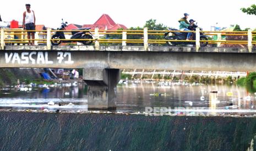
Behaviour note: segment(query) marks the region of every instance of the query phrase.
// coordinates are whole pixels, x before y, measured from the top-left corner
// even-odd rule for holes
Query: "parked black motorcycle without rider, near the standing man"
[[[67,27],[68,22],[63,22],[61,27],[57,28],[57,30],[66,30],[65,27]],[[89,31],[78,31],[78,30],[90,30],[90,28],[78,28],[75,30],[72,30],[72,37],[70,39],[66,39],[65,34],[63,31],[57,31],[55,34],[52,35],[52,39],[58,39],[58,40],[52,40],[52,45],[59,45],[61,43],[71,43],[71,42],[79,42],[83,43],[84,45],[90,45],[93,42],[92,34]],[[59,39],[65,39],[65,40],[59,40]],[[91,39],[91,40],[75,40],[75,39]]]

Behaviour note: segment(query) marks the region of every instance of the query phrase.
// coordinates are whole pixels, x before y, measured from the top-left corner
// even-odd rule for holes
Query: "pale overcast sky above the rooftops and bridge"
[[[1,0],[0,15],[3,21],[22,21],[25,4],[35,11],[36,24],[57,28],[61,19],[72,24],[94,24],[102,14],[108,14],[126,27],[143,27],[149,19],[157,24],[178,28],[184,13],[198,22],[204,30],[211,26],[256,28],[256,15],[242,13],[240,8],[256,4],[256,0]],[[188,20],[189,20],[188,19]]]

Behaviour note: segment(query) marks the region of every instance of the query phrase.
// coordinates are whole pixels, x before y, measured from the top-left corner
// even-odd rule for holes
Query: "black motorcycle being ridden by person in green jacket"
[[[190,31],[195,31],[195,29],[197,28],[197,24],[193,24],[190,25],[188,27],[188,29]],[[177,32],[171,32],[173,35],[172,36],[168,36],[168,34],[170,32],[166,32],[164,35],[164,38],[166,40],[186,40],[187,39],[187,34],[188,32],[178,32],[178,30],[176,28],[168,28],[169,31],[177,31]],[[202,28],[200,28],[200,31],[203,31]],[[195,33],[193,32],[192,35],[190,36],[189,40],[195,40]],[[200,40],[208,40],[207,36],[204,35],[204,33],[200,32]],[[175,46],[178,44],[195,44],[195,42],[166,42],[167,45],[169,46]],[[200,42],[200,46],[201,47],[205,47],[206,45],[208,45],[208,42]]]

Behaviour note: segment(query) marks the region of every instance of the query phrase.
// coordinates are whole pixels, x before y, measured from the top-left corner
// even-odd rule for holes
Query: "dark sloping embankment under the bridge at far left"
[[[33,68],[0,68],[0,87],[4,85],[17,85],[17,79],[21,82],[40,78],[42,69]]]

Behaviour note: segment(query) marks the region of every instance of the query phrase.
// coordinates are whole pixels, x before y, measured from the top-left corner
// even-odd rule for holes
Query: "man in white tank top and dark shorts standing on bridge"
[[[35,12],[34,10],[30,10],[30,4],[26,4],[26,11],[23,13],[23,28],[24,30],[36,30],[36,17],[35,17]],[[28,31],[28,39],[30,39],[30,33],[32,36],[32,39],[35,39],[35,32],[30,32]],[[30,43],[29,40],[29,45],[35,45],[34,40]]]

